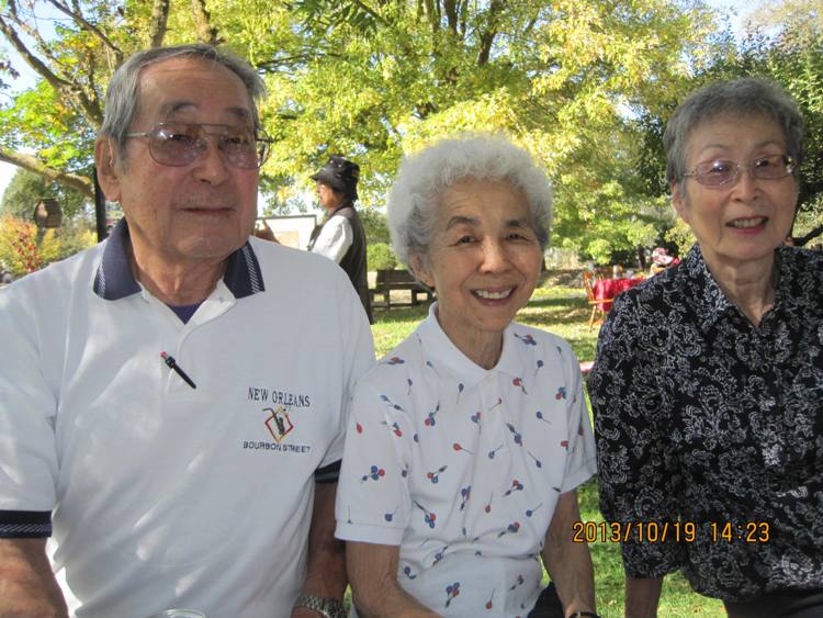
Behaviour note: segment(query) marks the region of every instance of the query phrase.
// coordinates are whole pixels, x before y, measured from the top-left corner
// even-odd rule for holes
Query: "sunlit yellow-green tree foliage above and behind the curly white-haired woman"
[[[556,243],[608,259],[613,248],[654,240],[659,204],[635,198],[627,119],[684,90],[684,58],[710,45],[700,4],[306,0],[298,8],[306,18],[292,50],[273,38],[271,49],[255,52],[272,85],[267,117],[278,143],[268,171],[285,180],[281,187],[342,151],[367,170],[374,203],[404,154],[443,134],[505,131],[555,183]]]

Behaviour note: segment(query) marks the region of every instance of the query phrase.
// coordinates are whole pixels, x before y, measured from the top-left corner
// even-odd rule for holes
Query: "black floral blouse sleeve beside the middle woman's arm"
[[[667,448],[670,401],[658,383],[658,333],[627,296],[615,301],[600,330],[597,360],[589,378],[595,411],[600,510],[625,531],[631,525],[676,521],[679,474]],[[646,526],[647,527],[647,526]],[[630,577],[659,577],[685,562],[684,546],[639,542],[630,535],[622,543]]]

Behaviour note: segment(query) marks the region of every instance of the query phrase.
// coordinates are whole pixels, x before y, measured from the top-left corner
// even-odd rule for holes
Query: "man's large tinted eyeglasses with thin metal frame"
[[[162,122],[145,133],[126,133],[126,137],[148,137],[148,151],[158,164],[183,167],[205,153],[211,137],[217,138],[217,150],[227,164],[241,169],[257,169],[269,156],[269,136],[250,126],[207,123]]]

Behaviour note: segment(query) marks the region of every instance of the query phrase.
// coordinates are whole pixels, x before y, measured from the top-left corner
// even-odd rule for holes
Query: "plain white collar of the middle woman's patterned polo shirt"
[[[437,302],[431,303],[428,317],[417,330],[422,342],[422,353],[429,362],[449,370],[467,389],[476,386],[492,372],[503,372],[512,378],[518,375],[517,371],[521,364],[512,344],[512,324],[509,324],[503,332],[503,350],[497,364],[493,369],[484,369],[460,351],[449,339],[437,321],[436,311]]]

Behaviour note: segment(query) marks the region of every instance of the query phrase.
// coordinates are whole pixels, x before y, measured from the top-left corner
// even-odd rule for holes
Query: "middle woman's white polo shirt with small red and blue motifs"
[[[568,344],[519,324],[485,370],[428,318],[358,382],[336,536],[399,546],[397,580],[443,616],[526,616],[557,496],[596,471]]]

